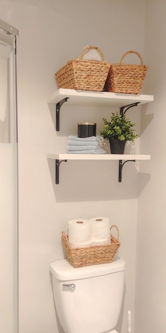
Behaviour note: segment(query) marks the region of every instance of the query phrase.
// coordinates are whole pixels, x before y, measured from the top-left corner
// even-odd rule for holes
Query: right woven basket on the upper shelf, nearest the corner
[[[136,53],[141,65],[122,64],[123,58],[129,53]],[[107,92],[138,94],[141,91],[143,80],[148,66],[143,65],[142,57],[136,51],[124,53],[118,64],[112,64],[104,90]]]

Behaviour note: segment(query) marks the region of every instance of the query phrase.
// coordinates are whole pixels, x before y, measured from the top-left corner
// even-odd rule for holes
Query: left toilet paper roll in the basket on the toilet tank
[[[68,240],[72,244],[91,242],[91,222],[85,219],[68,221]]]

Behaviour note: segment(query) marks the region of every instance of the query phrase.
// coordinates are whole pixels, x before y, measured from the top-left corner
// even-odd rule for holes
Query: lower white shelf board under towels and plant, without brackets
[[[150,155],[131,154],[47,154],[47,159],[53,160],[150,160]]]

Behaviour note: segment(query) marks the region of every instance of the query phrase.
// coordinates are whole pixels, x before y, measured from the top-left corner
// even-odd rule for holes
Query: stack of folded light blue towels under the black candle
[[[106,151],[100,147],[100,137],[78,138],[70,135],[68,137],[68,154],[105,154]]]

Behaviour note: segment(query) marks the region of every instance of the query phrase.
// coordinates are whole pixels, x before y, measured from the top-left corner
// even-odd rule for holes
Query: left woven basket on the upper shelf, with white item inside
[[[102,61],[83,60],[83,54],[88,49],[96,49],[102,56]],[[106,63],[104,55],[96,46],[86,47],[79,59],[72,59],[67,62],[56,73],[56,80],[59,88],[102,91],[111,64]]]

